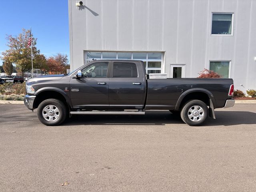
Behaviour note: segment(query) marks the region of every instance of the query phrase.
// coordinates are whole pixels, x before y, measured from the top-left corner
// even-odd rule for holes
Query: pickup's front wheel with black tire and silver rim
[[[43,113],[46,118],[44,118]],[[46,99],[39,104],[37,109],[38,119],[42,124],[47,126],[56,126],[62,124],[66,119],[67,114],[68,110],[66,105],[58,99]]]

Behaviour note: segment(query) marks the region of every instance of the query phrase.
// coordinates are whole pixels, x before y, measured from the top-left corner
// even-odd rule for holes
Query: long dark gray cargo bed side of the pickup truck
[[[208,78],[168,78],[148,79],[146,109],[172,110],[176,107],[178,99],[188,92],[203,92],[211,96],[214,108],[222,108],[228,96],[232,79]]]

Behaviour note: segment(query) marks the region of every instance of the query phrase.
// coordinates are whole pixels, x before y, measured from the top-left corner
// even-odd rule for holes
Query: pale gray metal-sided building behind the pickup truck
[[[70,68],[92,59],[143,60],[148,73],[204,68],[256,89],[256,0],[69,0]]]

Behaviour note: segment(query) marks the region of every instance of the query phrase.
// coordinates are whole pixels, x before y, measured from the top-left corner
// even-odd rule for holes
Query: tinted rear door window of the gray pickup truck
[[[113,77],[138,77],[136,64],[131,62],[114,62]]]

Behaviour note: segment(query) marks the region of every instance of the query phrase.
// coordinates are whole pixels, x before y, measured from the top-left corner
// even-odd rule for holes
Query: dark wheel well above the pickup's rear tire
[[[200,100],[202,102],[204,102],[207,106],[210,106],[210,98],[208,96],[208,94],[204,93],[204,92],[192,92],[187,94],[181,101],[180,106],[179,106],[179,110],[181,110],[181,108],[184,106],[184,104],[186,104],[186,102],[188,102],[189,100]]]

